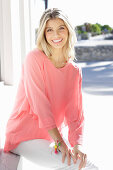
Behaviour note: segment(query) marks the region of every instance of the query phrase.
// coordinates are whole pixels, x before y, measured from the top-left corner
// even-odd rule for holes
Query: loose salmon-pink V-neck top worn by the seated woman
[[[38,49],[25,57],[15,105],[7,122],[4,151],[22,141],[52,141],[49,129],[68,126],[68,140],[73,147],[82,144],[84,115],[82,109],[82,74],[75,62],[56,68]]]

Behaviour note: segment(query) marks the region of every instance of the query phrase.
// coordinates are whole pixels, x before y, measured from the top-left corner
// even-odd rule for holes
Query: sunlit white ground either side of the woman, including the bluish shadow
[[[79,63],[83,69],[85,128],[83,149],[99,170],[112,169],[113,61]],[[17,87],[0,85],[0,142],[12,111]],[[27,163],[26,163],[27,164]]]

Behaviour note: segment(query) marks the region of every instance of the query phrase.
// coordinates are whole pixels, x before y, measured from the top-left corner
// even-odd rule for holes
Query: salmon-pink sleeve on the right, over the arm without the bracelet
[[[70,114],[76,114],[72,115],[73,120],[68,123],[68,140],[72,147],[74,147],[76,144],[82,145],[83,142],[83,129],[84,129],[84,115],[83,115],[83,105],[82,105],[82,70],[79,69],[78,72],[78,81],[76,82],[78,87],[76,90],[76,110],[75,112],[72,112]],[[76,119],[74,119],[76,118]],[[68,120],[67,120],[68,122]]]

